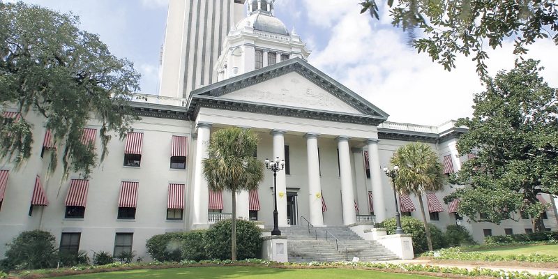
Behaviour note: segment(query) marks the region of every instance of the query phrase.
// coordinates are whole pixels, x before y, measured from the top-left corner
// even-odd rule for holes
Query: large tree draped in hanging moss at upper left
[[[20,113],[14,121],[0,116],[0,156],[21,165],[31,155],[32,119],[43,119],[52,131],[55,149],[50,156],[54,170],[58,156],[64,174],[87,176],[98,161],[83,128],[91,120],[100,124],[102,151],[116,133],[123,138],[130,122],[128,100],[139,89],[140,75],[133,63],[110,54],[95,34],[77,28],[79,19],[25,3],[0,1],[0,110]]]

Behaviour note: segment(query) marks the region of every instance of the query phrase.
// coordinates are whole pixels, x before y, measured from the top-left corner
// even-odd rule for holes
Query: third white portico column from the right
[[[319,178],[319,158],[317,134],[307,133],[306,150],[308,153],[308,206],[310,211],[310,223],[315,226],[324,225],[322,215],[322,186]]]

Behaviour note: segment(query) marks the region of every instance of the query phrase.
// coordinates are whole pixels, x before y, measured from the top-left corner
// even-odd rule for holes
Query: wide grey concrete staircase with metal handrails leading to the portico
[[[281,227],[280,230],[289,239],[289,262],[340,262],[352,261],[353,257],[359,257],[361,262],[400,259],[377,241],[363,240],[345,226],[310,227],[310,234],[307,226]],[[338,247],[331,234],[326,240],[326,230],[339,239]]]

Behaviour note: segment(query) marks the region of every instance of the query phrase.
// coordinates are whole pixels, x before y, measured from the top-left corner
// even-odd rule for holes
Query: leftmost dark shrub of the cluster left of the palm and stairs
[[[153,259],[160,262],[180,262],[184,237],[183,232],[157,234],[147,240],[145,247]]]

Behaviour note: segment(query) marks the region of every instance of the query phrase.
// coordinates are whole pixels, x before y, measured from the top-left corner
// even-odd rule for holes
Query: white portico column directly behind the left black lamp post
[[[276,157],[285,159],[285,131],[272,130],[273,135],[273,160]],[[277,211],[280,227],[287,226],[287,178],[285,170],[277,172]]]

